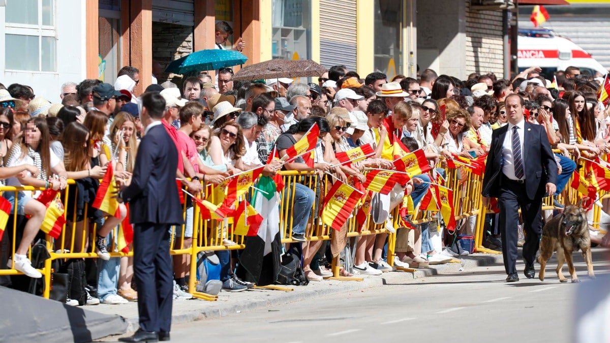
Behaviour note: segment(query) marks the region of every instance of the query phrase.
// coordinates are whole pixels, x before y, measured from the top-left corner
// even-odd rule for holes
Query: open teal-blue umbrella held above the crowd
[[[246,63],[248,57],[239,51],[207,49],[192,52],[188,56],[174,60],[167,66],[165,72],[174,74],[199,73],[204,70],[217,70]]]

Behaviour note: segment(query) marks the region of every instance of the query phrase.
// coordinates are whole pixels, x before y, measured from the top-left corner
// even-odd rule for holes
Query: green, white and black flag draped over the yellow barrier
[[[254,208],[263,220],[258,234],[246,239],[246,247],[239,255],[239,261],[257,286],[267,286],[278,280],[281,268],[279,200],[276,183],[268,176],[261,176],[256,187],[262,192],[255,190]]]

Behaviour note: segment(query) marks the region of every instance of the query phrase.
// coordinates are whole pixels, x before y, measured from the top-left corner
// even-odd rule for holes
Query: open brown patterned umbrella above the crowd
[[[307,76],[321,76],[326,68],[312,60],[283,60],[273,59],[265,62],[248,65],[240,69],[234,80],[258,80],[276,78],[304,78]]]

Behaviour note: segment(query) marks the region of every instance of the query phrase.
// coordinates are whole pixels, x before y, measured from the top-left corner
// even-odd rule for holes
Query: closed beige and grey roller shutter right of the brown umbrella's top
[[[356,0],[320,0],[320,64],[356,70]]]

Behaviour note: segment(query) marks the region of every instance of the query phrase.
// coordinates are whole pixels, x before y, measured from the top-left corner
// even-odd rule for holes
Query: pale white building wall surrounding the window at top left
[[[60,103],[61,85],[66,81],[81,82],[85,79],[85,1],[55,1],[56,64],[57,71],[6,71],[5,70],[5,7],[0,7],[0,82],[9,87],[18,83],[29,85],[36,96],[43,96],[51,103]],[[27,51],[15,51],[27,54]]]

